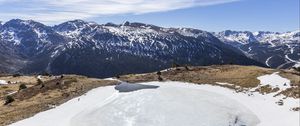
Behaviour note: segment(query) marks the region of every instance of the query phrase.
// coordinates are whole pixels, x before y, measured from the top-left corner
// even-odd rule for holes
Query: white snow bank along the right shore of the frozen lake
[[[291,110],[291,108],[300,106],[299,99],[286,98],[284,105],[279,106],[276,102],[283,99],[284,96],[273,97],[275,94],[262,95],[251,91],[236,93],[234,90],[211,85],[191,86],[219,93],[243,104],[259,118],[260,123],[257,126],[300,125],[300,113]]]

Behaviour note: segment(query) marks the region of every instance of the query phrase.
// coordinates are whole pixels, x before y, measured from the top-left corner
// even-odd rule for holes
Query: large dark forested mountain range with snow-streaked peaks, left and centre
[[[0,27],[0,48],[0,69],[5,72],[106,77],[154,71],[172,62],[263,65],[206,31],[130,22],[74,20],[51,27],[14,19]]]

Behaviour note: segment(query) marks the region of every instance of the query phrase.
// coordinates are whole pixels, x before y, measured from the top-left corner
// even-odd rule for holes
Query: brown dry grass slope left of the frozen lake
[[[62,79],[58,77],[45,80],[43,88],[42,85],[34,84],[13,94],[15,101],[9,105],[3,105],[3,98],[0,100],[0,126],[31,117],[36,113],[50,109],[51,105],[60,105],[93,88],[117,83],[119,82],[68,75]],[[17,84],[7,86],[10,90],[18,90]],[[0,88],[0,90],[2,89]]]

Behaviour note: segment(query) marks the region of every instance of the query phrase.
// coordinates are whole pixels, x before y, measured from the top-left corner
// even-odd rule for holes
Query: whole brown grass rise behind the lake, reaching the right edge
[[[219,85],[235,89],[236,91],[243,91],[249,88],[257,87],[260,81],[257,77],[272,74],[274,72],[280,72],[280,75],[291,80],[293,87],[279,92],[287,97],[300,98],[300,78],[299,73],[287,70],[274,70],[261,68],[256,66],[237,66],[237,65],[222,65],[222,66],[204,66],[204,67],[179,67],[178,69],[172,68],[168,71],[161,72],[161,77],[164,80],[182,81],[196,84],[211,84]],[[120,77],[123,81],[132,83],[136,82],[148,82],[158,81],[158,75],[156,73],[139,74],[139,75],[125,75]],[[220,85],[216,82],[229,83],[233,85]],[[262,94],[277,92],[278,88],[272,88],[270,86],[261,86],[256,89],[257,92]]]

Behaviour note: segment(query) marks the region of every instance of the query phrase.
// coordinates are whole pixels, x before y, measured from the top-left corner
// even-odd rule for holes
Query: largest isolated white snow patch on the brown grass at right
[[[290,88],[291,81],[278,75],[279,72],[273,74],[260,76],[257,79],[260,80],[262,85],[270,85],[272,87],[278,87],[281,90]]]

